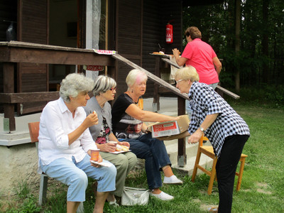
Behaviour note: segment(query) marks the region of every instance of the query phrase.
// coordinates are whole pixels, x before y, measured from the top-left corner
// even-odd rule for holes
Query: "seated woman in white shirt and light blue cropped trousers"
[[[38,136],[39,171],[68,185],[67,212],[76,212],[85,200],[88,177],[97,180],[94,212],[103,212],[109,192],[115,190],[116,168],[100,167],[90,162],[90,152],[97,149],[89,126],[97,125],[97,114],[86,113],[82,107],[89,99],[93,80],[70,74],[61,82],[60,98],[46,104],[40,116]],[[98,162],[102,162],[99,156]]]

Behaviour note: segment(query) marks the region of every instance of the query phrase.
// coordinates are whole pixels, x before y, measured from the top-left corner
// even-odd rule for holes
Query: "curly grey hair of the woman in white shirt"
[[[67,103],[70,97],[77,97],[80,92],[89,92],[94,88],[94,81],[84,74],[71,73],[60,83],[60,97]]]

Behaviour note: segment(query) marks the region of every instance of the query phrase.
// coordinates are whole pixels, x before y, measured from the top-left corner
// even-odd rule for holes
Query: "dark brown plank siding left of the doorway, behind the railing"
[[[48,44],[48,0],[20,0],[18,40]],[[48,91],[48,65],[35,63],[18,64],[17,92]],[[46,102],[18,104],[18,115],[41,111]]]

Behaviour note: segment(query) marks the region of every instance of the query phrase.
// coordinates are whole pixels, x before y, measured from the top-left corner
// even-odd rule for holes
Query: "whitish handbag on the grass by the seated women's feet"
[[[149,190],[124,187],[124,192],[121,196],[121,204],[126,206],[145,205],[149,201]]]

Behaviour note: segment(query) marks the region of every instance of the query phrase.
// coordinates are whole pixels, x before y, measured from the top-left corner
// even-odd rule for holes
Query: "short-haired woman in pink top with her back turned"
[[[221,72],[222,63],[214,52],[213,48],[201,40],[201,32],[195,27],[191,26],[185,31],[187,39],[187,45],[183,50],[180,57],[180,51],[173,49],[173,56],[179,66],[195,67],[198,75],[200,76],[200,82],[208,84],[215,89],[219,82],[219,73]],[[186,100],[186,110],[191,116],[192,110],[189,107],[189,103]]]

